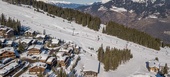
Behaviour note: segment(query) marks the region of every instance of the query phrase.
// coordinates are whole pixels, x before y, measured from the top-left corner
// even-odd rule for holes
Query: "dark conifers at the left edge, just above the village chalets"
[[[16,21],[10,17],[7,19],[4,14],[0,16],[0,24],[12,28],[15,34],[18,34],[21,30],[20,21]]]

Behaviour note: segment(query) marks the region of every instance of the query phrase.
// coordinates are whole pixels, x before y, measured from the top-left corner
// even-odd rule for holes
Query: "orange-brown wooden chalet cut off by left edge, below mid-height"
[[[5,47],[3,49],[0,49],[0,59],[15,57],[16,55],[13,47]]]

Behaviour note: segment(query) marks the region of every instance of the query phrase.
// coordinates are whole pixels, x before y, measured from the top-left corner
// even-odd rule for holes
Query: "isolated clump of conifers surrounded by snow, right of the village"
[[[116,70],[120,64],[125,63],[132,57],[133,55],[128,49],[119,50],[106,47],[104,51],[102,46],[98,49],[98,60],[104,64],[104,69],[106,71]]]

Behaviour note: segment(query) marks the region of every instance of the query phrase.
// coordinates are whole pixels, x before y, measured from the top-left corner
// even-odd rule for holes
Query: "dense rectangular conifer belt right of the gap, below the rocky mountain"
[[[106,29],[104,29],[103,32],[149,48],[160,50],[161,42],[159,39],[153,38],[150,35],[136,29],[127,28],[115,22],[108,22]]]

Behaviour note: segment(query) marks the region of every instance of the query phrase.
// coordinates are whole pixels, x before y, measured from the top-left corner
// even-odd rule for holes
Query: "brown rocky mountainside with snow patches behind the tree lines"
[[[170,0],[111,0],[77,9],[100,17],[105,24],[115,21],[170,43]]]

